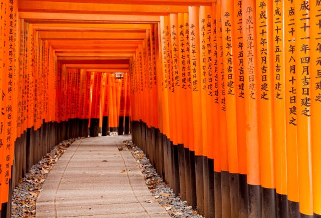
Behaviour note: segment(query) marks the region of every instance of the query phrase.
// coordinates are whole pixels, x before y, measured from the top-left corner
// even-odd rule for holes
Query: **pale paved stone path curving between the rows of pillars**
[[[36,217],[169,217],[153,200],[130,152],[118,150],[128,139],[75,141],[50,171]]]

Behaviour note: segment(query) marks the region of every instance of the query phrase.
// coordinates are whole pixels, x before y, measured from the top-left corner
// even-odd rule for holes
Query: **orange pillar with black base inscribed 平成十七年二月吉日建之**
[[[203,149],[202,149],[202,100],[201,100],[201,65],[200,65],[200,35],[199,7],[189,7],[190,53],[192,74],[192,100],[195,145],[195,173],[197,208],[204,214],[204,185],[203,185]]]

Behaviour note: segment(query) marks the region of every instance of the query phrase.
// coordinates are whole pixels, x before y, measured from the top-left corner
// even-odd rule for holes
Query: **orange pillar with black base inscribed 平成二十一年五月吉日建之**
[[[235,96],[236,96],[236,124],[238,147],[239,172],[239,216],[247,217],[248,192],[246,169],[246,117],[244,99],[244,54],[243,54],[243,28],[242,28],[242,1],[234,1],[234,58],[235,58]]]

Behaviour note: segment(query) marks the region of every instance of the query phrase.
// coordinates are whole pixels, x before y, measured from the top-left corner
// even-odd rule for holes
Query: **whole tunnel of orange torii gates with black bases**
[[[130,131],[206,217],[321,217],[320,0],[1,0],[0,13],[2,217],[53,146],[99,131]]]

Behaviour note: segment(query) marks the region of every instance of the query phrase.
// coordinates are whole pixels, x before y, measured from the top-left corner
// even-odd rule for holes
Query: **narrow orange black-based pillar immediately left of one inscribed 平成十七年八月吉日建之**
[[[229,164],[227,153],[227,122],[226,122],[226,101],[224,83],[224,53],[223,53],[223,31],[222,22],[222,1],[216,3],[217,13],[217,51],[218,51],[218,90],[219,90],[219,143],[220,143],[220,163],[221,163],[221,192],[222,192],[222,215],[231,216],[230,207],[230,184],[229,184]]]

